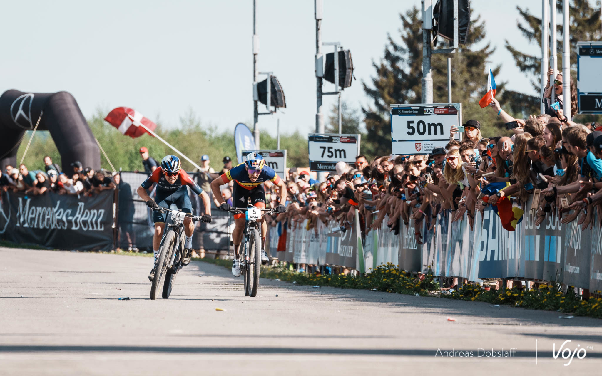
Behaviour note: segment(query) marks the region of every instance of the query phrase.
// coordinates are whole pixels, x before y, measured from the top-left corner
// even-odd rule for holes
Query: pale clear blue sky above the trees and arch
[[[259,71],[271,70],[284,88],[284,113],[260,116],[276,133],[315,128],[315,20],[312,0],[257,0]],[[516,28],[517,4],[541,13],[541,2],[471,2],[497,48],[492,65],[508,88],[531,92],[504,39],[529,45]],[[324,0],[324,42],[352,51],[357,81],[343,93],[355,108],[367,103],[361,81],[374,74],[388,32],[398,39],[399,13],[419,0]],[[252,0],[232,1],[12,1],[0,13],[0,91],[66,90],[84,116],[129,106],[166,126],[192,110],[203,125],[252,127]],[[330,47],[325,48],[326,52]],[[536,51],[532,51],[537,53]],[[486,80],[483,72],[483,81]],[[326,83],[324,91],[332,90]],[[336,97],[324,97],[325,109]],[[261,107],[261,110],[265,106]]]

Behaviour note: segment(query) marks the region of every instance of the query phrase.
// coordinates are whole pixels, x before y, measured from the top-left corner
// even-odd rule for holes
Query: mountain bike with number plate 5
[[[232,208],[229,212],[244,214],[244,250],[240,252],[240,271],[244,274],[244,295],[255,297],[259,287],[259,268],[261,267],[261,217],[272,214],[276,209]],[[263,212],[263,214],[261,213]],[[242,246],[243,244],[241,244]]]

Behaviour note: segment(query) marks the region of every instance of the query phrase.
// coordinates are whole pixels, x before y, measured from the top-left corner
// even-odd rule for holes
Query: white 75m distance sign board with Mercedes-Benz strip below
[[[312,171],[335,171],[337,162],[354,164],[359,155],[359,134],[310,133],[308,140],[309,169]]]

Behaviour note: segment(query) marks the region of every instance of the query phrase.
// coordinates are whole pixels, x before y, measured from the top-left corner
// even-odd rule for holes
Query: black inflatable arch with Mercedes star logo
[[[16,167],[17,149],[25,131],[36,126],[37,131],[49,131],[61,155],[63,171],[81,161],[84,167],[99,170],[101,154],[90,126],[85,121],[75,98],[66,91],[58,93],[23,93],[7,90],[0,96],[0,168],[6,164]]]

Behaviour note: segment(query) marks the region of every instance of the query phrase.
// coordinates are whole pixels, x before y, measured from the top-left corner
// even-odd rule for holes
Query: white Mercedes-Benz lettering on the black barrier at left
[[[16,226],[29,227],[32,229],[63,229],[63,230],[84,230],[84,231],[102,231],[105,219],[104,209],[85,209],[83,202],[78,202],[75,213],[72,209],[60,208],[61,202],[57,201],[57,206],[33,206],[31,199],[25,200],[19,197],[19,208],[17,209]]]

